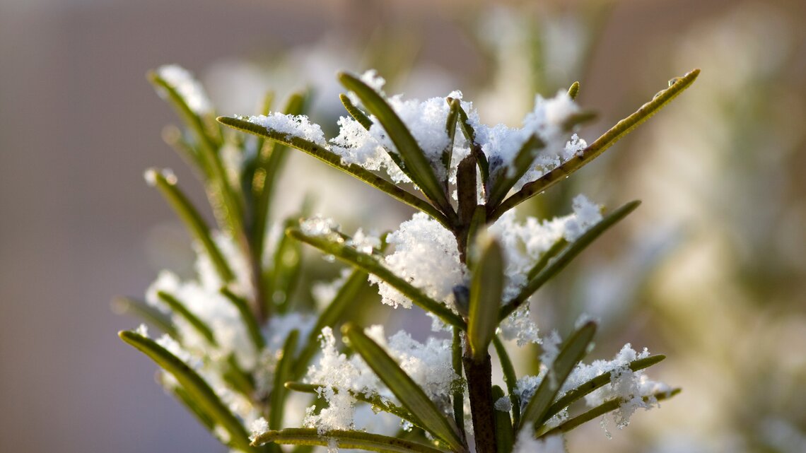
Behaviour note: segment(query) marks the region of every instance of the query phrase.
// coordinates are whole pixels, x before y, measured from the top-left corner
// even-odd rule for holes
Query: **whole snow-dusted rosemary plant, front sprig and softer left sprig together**
[[[572,214],[526,222],[518,222],[513,209],[605,152],[698,73],[672,79],[587,143],[575,134],[594,116],[574,102],[579,83],[554,98],[538,96],[523,127],[509,128],[480,123],[459,92],[405,100],[387,97],[383,79],[372,71],[341,73],[349,116],[339,120],[339,135],[326,140],[301,115],[301,95],[281,113],[270,112],[267,102],[260,115],[215,123],[189,74],[160,69],[152,81],[189,131],[173,144],[204,182],[219,232],[206,225],[171,174],[147,173],[193,234],[199,275],[181,282],[163,274],[146,303],[122,302],[164,330],[161,339],[149,339],[144,328],[120,336],[154,359],[162,383],[239,451],[280,445],[295,445],[295,451],[565,451],[563,433],[584,422],[613,414],[617,426],[625,426],[636,409],[679,392],[643,372],[663,355],[628,344],[613,360],[584,364],[596,322],[580,318],[564,341],[556,331],[539,335],[529,301],[639,202],[603,212],[578,196]],[[418,213],[380,237],[362,230],[349,235],[333,220],[314,216],[284,220],[285,235],[270,239],[272,189],[288,148]],[[232,150],[235,164],[225,159]],[[318,314],[298,313],[293,301],[300,243],[350,269]],[[435,331],[450,334],[419,343],[405,332],[387,337],[382,326],[343,322],[366,281],[377,285],[384,303],[418,305],[434,318]],[[332,327],[339,325],[347,349],[337,347]],[[505,340],[541,345],[538,376],[517,375]],[[492,384],[491,351],[506,389]],[[312,393],[314,403],[288,423],[284,408],[292,393]],[[588,409],[575,405],[583,400]],[[392,414],[402,429],[370,432],[355,416],[358,405]]]

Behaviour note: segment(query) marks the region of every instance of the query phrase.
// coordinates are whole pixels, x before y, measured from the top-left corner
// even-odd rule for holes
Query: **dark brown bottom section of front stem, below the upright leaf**
[[[490,355],[478,361],[471,355],[470,345],[465,343],[464,376],[470,395],[473,433],[476,438],[476,453],[496,453],[496,422],[492,413],[492,364]]]

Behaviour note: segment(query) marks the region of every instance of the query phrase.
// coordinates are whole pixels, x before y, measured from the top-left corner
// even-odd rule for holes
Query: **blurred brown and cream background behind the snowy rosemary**
[[[110,309],[160,268],[185,269],[181,224],[143,169],[193,181],[160,138],[177,123],[144,73],[191,69],[222,114],[264,91],[314,90],[341,114],[337,69],[376,68],[389,93],[462,89],[485,123],[519,126],[534,94],[580,81],[591,141],[667,85],[696,83],[629,138],[529,203],[642,207],[533,303],[544,331],[600,318],[595,357],[625,342],[668,359],[683,387],[607,440],[570,451],[806,451],[806,6],[802,0],[654,2],[0,3],[0,451],[223,451],[154,382]],[[333,131],[326,131],[332,136]],[[391,228],[410,211],[304,156],[283,200]],[[185,185],[192,188],[192,184]],[[192,193],[202,200],[202,190]],[[526,354],[529,354],[527,351]]]

